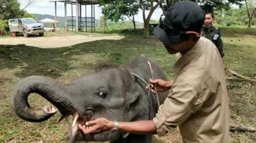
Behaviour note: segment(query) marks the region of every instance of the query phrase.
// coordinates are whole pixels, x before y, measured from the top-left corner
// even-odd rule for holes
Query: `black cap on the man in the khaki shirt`
[[[196,2],[181,1],[166,11],[165,19],[161,20],[153,31],[166,45],[180,43],[192,35],[200,33],[205,14]]]

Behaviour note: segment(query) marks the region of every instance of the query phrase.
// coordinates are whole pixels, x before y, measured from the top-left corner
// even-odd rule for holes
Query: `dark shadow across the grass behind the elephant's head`
[[[156,48],[159,46],[161,48]],[[20,78],[30,75],[47,75],[57,78],[63,72],[75,68],[70,64],[71,61],[79,60],[75,57],[86,56],[88,53],[97,54],[105,62],[119,65],[140,54],[155,56],[155,59],[158,59],[157,56],[159,56],[159,61],[164,62],[161,56],[168,55],[164,50],[160,43],[155,43],[155,40],[138,39],[137,37],[122,40],[98,40],[56,49],[41,49],[22,44],[0,45],[0,70],[20,68],[15,73]],[[85,66],[91,68],[92,65],[90,63],[86,65],[85,61]],[[5,82],[5,80],[0,82]]]

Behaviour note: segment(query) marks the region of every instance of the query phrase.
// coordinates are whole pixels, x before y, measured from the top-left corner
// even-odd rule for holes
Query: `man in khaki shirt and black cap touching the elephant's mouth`
[[[79,125],[85,134],[117,128],[123,132],[165,135],[176,126],[183,142],[228,142],[229,98],[216,46],[200,37],[204,13],[195,2],[181,1],[168,9],[155,28],[170,54],[181,53],[173,82],[151,80],[157,91],[171,89],[153,120],[113,122],[100,118]]]

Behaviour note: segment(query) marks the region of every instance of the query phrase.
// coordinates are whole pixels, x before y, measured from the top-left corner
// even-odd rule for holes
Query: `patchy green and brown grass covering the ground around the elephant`
[[[224,63],[242,75],[256,76],[256,51],[254,50],[256,35],[253,30],[222,28],[225,46]],[[117,31],[115,31],[117,32]],[[62,32],[64,36],[70,34],[89,34]],[[146,54],[153,57],[172,79],[174,73],[172,65],[175,56],[168,55],[162,43],[154,37],[144,39],[141,30],[131,32],[122,30],[122,40],[98,40],[81,43],[75,46],[57,49],[40,49],[33,46],[0,46],[0,142],[63,142],[71,125],[71,118],[60,123],[55,115],[46,122],[24,122],[15,115],[12,107],[12,88],[21,78],[29,75],[46,75],[56,81],[67,83],[78,78],[98,62],[113,62],[121,65],[134,56]],[[46,33],[52,37],[55,33]],[[97,34],[97,33],[93,33]],[[238,124],[256,128],[256,91],[255,83],[234,78],[226,72],[230,97],[232,119]],[[232,77],[232,78],[230,78]],[[43,106],[47,101],[32,95],[29,97],[31,106]],[[40,100],[40,103],[37,101]],[[255,142],[256,135],[251,132],[230,132],[230,142]],[[178,131],[160,138],[165,142],[178,142]]]

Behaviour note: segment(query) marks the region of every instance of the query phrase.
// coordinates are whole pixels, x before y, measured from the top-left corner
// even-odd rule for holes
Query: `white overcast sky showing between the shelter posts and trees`
[[[30,6],[29,8],[26,8],[26,11],[32,14],[50,14],[55,15],[54,10],[54,2],[50,2],[49,0],[40,0],[36,4]],[[75,15],[75,5],[73,5],[73,12]],[[84,11],[82,11],[82,15],[85,16],[85,7],[82,8]],[[87,6],[87,15],[91,16],[91,6]],[[68,16],[71,15],[71,5],[67,5],[67,14]],[[162,14],[162,10],[160,8],[157,8],[152,15],[151,19],[157,19]],[[57,2],[57,16],[64,16],[64,3]],[[95,5],[95,18],[99,19],[99,17],[102,16],[101,14],[101,8],[98,5]],[[128,20],[128,19],[127,19]],[[136,21],[142,22],[142,12],[139,11],[139,14],[136,15]]]

